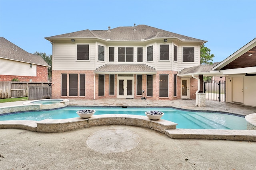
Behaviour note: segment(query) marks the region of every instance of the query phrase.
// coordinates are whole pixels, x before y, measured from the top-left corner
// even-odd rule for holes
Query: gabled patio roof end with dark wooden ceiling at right
[[[256,66],[256,38],[217,64],[213,70],[227,70]],[[255,71],[256,72],[256,71]]]

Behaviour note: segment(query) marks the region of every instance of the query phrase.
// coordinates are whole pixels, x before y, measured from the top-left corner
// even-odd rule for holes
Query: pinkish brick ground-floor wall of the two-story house
[[[67,89],[67,96],[61,96],[61,75],[62,74],[78,74],[78,90],[79,90],[79,74],[85,74],[85,96],[69,96],[69,89]],[[159,75],[169,75],[169,96],[159,97]],[[176,71],[158,71],[153,75],[153,96],[146,96],[147,99],[152,100],[175,100],[181,98],[181,79],[177,77],[177,92],[174,96],[174,74],[178,74]],[[95,99],[102,98],[117,98],[117,74],[115,74],[115,94],[109,95],[109,74],[105,74],[105,94],[104,96],[98,96],[98,82],[99,74],[95,74]],[[147,94],[146,86],[146,74],[142,75],[142,89]],[[69,76],[67,76],[67,82],[69,82]],[[190,98],[196,99],[196,91],[198,87],[198,80],[190,78]],[[69,84],[67,84],[69,86]],[[79,94],[79,92],[78,92]],[[140,99],[142,95],[136,95],[136,74],[134,74],[134,98]],[[94,99],[94,72],[93,70],[52,70],[52,98],[66,98],[66,99]]]

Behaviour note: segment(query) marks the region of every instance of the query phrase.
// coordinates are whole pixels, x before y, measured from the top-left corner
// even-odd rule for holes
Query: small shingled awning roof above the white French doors
[[[105,64],[94,70],[96,74],[156,74],[156,69],[146,64]]]

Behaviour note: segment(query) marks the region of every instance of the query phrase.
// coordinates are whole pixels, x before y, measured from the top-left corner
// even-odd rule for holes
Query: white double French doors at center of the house
[[[117,98],[134,98],[134,77],[118,77],[117,90]]]

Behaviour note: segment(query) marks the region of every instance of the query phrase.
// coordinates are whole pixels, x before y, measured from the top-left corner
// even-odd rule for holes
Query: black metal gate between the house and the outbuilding
[[[204,82],[204,93],[206,100],[226,102],[226,81]]]

